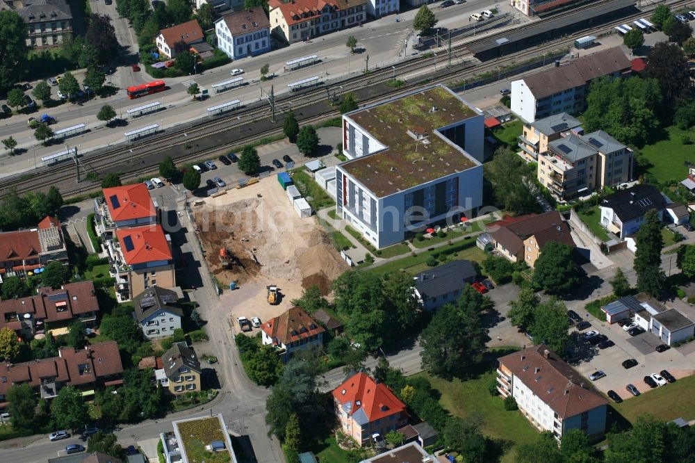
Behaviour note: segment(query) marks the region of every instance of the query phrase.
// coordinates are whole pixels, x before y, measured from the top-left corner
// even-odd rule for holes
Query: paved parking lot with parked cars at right
[[[594,330],[605,334],[615,346],[603,350],[591,346],[584,338],[583,333]],[[694,369],[694,364],[676,348],[665,352],[657,352],[656,346],[662,341],[650,332],[630,336],[617,324],[609,325],[605,322],[591,321],[591,327],[580,333],[574,327],[570,330],[573,339],[578,340],[578,352],[582,355],[579,363],[573,364],[575,369],[584,377],[602,370],[606,375],[593,382],[596,389],[603,393],[613,390],[623,400],[632,397],[626,390],[628,384],[634,384],[640,393],[645,393],[651,388],[644,383],[644,377],[652,373],[667,370],[676,377],[688,376]],[[636,359],[637,365],[632,368],[623,368],[622,363],[627,359]]]

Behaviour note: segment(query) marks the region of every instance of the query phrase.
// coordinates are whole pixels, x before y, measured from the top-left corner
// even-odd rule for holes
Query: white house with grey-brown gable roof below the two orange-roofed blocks
[[[176,307],[179,299],[177,291],[161,286],[152,286],[133,298],[133,315],[142,327],[145,338],[171,336],[174,330],[181,327],[183,310]]]

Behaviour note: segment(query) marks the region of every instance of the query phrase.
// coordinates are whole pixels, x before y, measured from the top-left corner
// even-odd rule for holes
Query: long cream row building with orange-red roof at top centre
[[[368,1],[269,0],[270,29],[280,40],[294,43],[357,26],[367,19]]]

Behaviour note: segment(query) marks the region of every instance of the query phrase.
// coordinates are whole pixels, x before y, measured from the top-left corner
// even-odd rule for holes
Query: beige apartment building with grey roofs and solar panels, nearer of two
[[[632,179],[632,150],[604,131],[565,133],[538,156],[538,181],[561,200]]]

